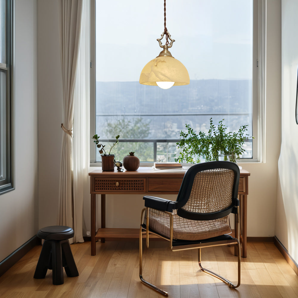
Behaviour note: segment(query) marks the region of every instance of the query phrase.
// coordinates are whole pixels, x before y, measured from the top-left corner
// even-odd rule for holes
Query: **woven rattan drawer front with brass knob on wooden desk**
[[[95,192],[145,192],[146,179],[100,179],[95,178]]]

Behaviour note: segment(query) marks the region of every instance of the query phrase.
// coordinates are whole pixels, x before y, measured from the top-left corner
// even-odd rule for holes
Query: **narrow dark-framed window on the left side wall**
[[[12,185],[11,2],[0,0],[0,193]]]

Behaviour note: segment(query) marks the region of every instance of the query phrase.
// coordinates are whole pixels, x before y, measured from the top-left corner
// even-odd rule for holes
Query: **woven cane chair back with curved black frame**
[[[205,162],[184,175],[176,201],[177,214],[193,220],[213,220],[235,213],[240,170],[233,162]]]

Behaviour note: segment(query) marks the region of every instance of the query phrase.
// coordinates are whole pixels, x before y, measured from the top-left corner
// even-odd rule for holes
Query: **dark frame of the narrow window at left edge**
[[[6,129],[5,134],[5,179],[0,184],[0,195],[14,190],[14,150],[13,150],[13,53],[14,53],[14,1],[6,0],[6,63],[0,69],[6,72]]]

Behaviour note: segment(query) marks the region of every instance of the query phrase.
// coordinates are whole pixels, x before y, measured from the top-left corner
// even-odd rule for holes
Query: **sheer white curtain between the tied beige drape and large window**
[[[83,201],[90,205],[90,1],[83,0],[82,29],[74,114],[74,230],[75,242],[84,242]],[[90,221],[90,217],[88,218]]]

